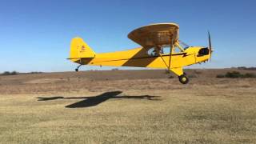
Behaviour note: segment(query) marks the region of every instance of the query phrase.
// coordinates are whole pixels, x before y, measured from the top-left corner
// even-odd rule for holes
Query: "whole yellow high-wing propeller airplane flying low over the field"
[[[70,46],[70,61],[93,66],[134,66],[160,68],[178,75],[179,82],[186,84],[188,77],[183,66],[206,62],[212,54],[210,33],[209,46],[187,46],[178,40],[178,24],[158,23],[142,26],[128,34],[128,38],[142,47],[131,50],[96,54],[82,40],[73,38]]]

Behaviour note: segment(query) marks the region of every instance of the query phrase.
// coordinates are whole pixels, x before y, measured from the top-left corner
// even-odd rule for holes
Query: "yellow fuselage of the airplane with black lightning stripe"
[[[205,51],[202,52],[203,49]],[[174,52],[170,56],[170,53],[150,55],[148,49],[139,47],[131,50],[95,54],[94,58],[82,58],[76,62],[92,66],[134,66],[163,69],[167,65],[170,69],[174,69],[208,60],[210,54],[209,50],[207,52],[206,49],[208,50],[202,46],[192,46],[182,52]],[[199,54],[200,50],[202,54]]]

